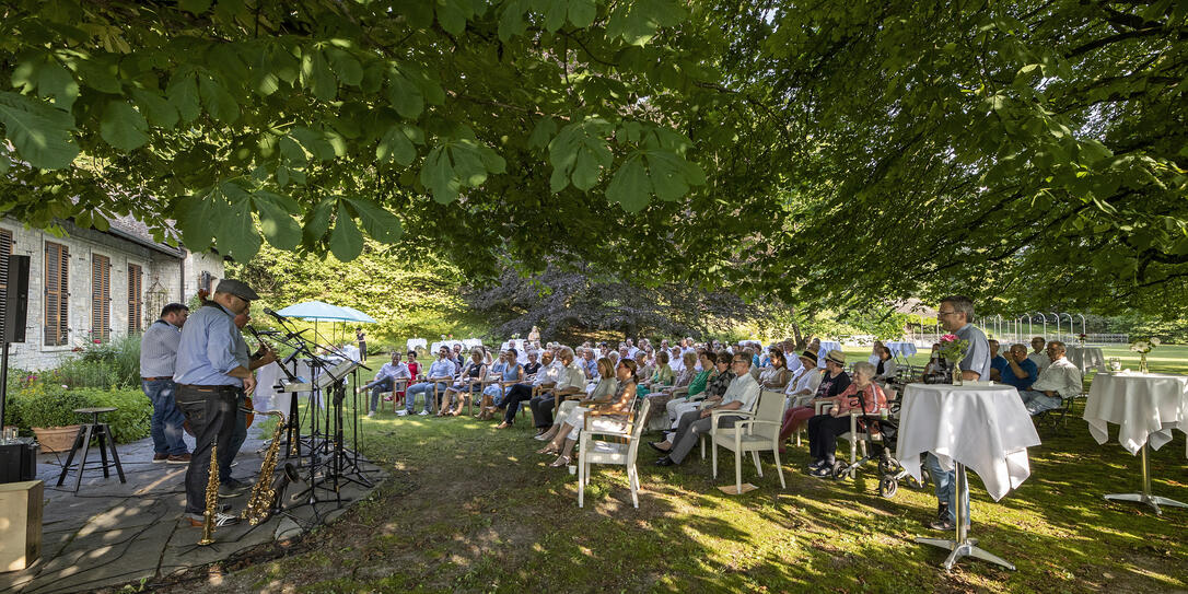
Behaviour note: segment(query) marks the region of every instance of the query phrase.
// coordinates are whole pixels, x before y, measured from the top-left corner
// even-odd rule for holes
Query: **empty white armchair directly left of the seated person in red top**
[[[759,453],[771,450],[776,456],[776,472],[779,473],[779,488],[788,488],[784,484],[784,469],[779,463],[779,428],[784,419],[783,392],[763,391],[759,392],[759,403],[756,406],[752,418],[738,421],[734,426],[718,426],[718,415],[737,413],[737,411],[714,411],[713,423],[709,428],[710,438],[714,441],[713,468],[714,479],[718,478],[718,448],[726,448],[734,453],[734,488],[735,493],[742,491],[742,453],[750,451],[754,460],[754,469],[763,478],[763,467],[759,466]]]

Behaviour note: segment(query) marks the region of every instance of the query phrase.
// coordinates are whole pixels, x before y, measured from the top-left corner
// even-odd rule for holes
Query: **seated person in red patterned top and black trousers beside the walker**
[[[809,465],[809,474],[813,476],[829,476],[833,474],[833,465],[838,451],[838,436],[849,431],[849,415],[878,415],[887,405],[886,393],[883,387],[873,383],[874,366],[867,361],[854,364],[854,381],[846,386],[846,390],[833,398],[823,399],[833,404],[822,415],[809,418],[809,454],[813,463]]]

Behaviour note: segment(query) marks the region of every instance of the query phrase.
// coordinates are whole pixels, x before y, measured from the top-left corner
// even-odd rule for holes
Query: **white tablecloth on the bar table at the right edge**
[[[1173,429],[1188,432],[1188,375],[1098,373],[1085,403],[1085,421],[1098,443],[1110,438],[1106,423],[1117,423],[1118,443],[1131,454],[1148,440],[1159,449],[1171,441]]]

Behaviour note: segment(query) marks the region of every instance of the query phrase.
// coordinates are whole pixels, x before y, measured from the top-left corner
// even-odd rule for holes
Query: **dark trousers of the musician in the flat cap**
[[[207,482],[210,473],[210,447],[219,443],[220,457],[230,451],[233,432],[232,415],[235,410],[238,390],[206,391],[177,386],[177,407],[190,422],[195,446],[190,467],[185,470],[185,512],[201,516],[206,511]],[[226,426],[225,426],[226,425]]]

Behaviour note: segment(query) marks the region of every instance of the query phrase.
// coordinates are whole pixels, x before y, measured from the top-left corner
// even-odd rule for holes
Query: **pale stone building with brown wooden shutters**
[[[110,221],[106,232],[61,226],[65,234],[58,238],[0,219],[0,254],[30,257],[25,342],[8,349],[15,368],[55,367],[89,343],[137,334],[166,303],[185,303],[223,274],[217,254],[154,241],[131,217]],[[0,260],[2,285],[7,261]]]

